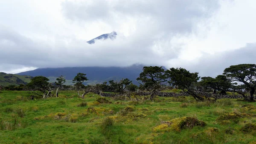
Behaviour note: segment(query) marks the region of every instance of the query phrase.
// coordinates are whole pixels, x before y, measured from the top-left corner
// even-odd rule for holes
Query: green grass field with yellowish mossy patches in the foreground
[[[1,144],[256,142],[256,103],[236,99],[195,102],[189,96],[155,97],[154,101],[143,96],[134,102],[125,97],[102,99],[94,93],[80,99],[74,91],[61,91],[60,97],[49,99],[29,100],[31,95],[28,91],[0,91]],[[184,117],[193,121],[181,125]],[[206,125],[189,127],[194,118]]]

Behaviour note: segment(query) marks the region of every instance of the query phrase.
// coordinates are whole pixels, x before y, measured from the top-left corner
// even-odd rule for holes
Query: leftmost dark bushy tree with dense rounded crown
[[[51,96],[51,93],[53,89],[51,88],[52,85],[49,84],[49,79],[44,76],[35,76],[33,79],[31,79],[31,82],[27,84],[27,87],[30,90],[34,90],[34,93],[43,96],[44,99]],[[36,91],[40,91],[43,94],[37,93]]]

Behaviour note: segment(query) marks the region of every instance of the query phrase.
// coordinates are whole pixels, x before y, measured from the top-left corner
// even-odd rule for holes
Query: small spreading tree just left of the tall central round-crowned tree
[[[111,87],[113,87],[118,93],[122,94],[126,90],[126,87],[131,84],[129,79],[122,79],[119,82],[114,82],[114,80],[109,81]]]

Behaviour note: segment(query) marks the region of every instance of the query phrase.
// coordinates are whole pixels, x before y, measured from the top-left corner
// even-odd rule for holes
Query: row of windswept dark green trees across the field
[[[225,94],[227,91],[236,92],[241,94],[246,101],[254,102],[253,95],[256,88],[256,65],[255,64],[241,64],[232,65],[224,70],[222,75],[218,75],[215,78],[202,77],[201,81],[198,73],[191,73],[184,68],[170,68],[164,70],[158,66],[146,66],[143,68],[143,72],[137,78],[140,83],[140,87],[133,85],[129,79],[122,79],[119,82],[113,80],[103,84],[97,84],[95,86],[85,86],[84,81],[87,81],[86,74],[77,73],[73,79],[74,86],[78,91],[81,98],[89,91],[115,91],[120,94],[125,90],[135,91],[137,89],[147,90],[150,92],[150,99],[154,99],[154,93],[164,85],[170,85],[173,88],[179,88],[186,93],[189,93],[196,100],[203,101],[204,96],[202,91],[207,93],[221,93]],[[66,82],[64,76],[60,76],[56,79],[55,88],[49,84],[49,79],[44,76],[36,76],[27,85],[31,90],[41,91],[42,96],[47,98],[51,96],[53,90],[56,89],[56,96],[58,96],[58,90]],[[79,90],[84,90],[84,93],[80,94]],[[37,93],[40,95],[40,93]]]

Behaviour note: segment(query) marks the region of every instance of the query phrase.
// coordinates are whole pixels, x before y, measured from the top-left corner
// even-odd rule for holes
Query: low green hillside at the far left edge
[[[32,76],[20,76],[17,74],[7,74],[0,72],[0,85],[8,86],[8,85],[26,85],[32,79]]]

